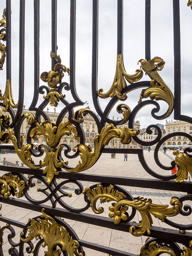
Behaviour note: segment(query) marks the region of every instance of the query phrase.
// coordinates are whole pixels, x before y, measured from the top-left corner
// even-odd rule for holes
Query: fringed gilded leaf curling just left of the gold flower
[[[115,190],[113,185],[110,185],[106,188],[103,187],[101,184],[97,184],[96,188],[85,188],[82,194],[85,193],[91,201],[91,208],[93,212],[96,214],[101,214],[104,212],[103,207],[99,207],[98,210],[96,209],[96,202],[98,201],[98,199],[100,199],[100,203],[102,204],[104,202],[111,201],[118,202],[119,200],[126,198],[126,195],[122,192]]]

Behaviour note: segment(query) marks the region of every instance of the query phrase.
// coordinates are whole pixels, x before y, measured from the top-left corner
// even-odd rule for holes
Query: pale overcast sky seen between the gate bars
[[[6,6],[5,0],[0,0],[0,15]],[[139,68],[138,60],[145,58],[144,50],[144,0],[124,0],[124,66],[128,74],[134,74]],[[173,59],[173,14],[172,0],[151,0],[151,56],[159,56],[166,61],[164,69],[160,71],[164,82],[174,92],[174,59]],[[99,63],[98,63],[98,88],[108,91],[114,79],[116,70],[117,31],[116,0],[100,0],[99,4]],[[69,22],[70,0],[58,0],[58,54],[62,64],[69,67]],[[181,46],[182,46],[182,114],[191,116],[190,102],[192,99],[192,58],[191,58],[191,27],[192,10],[187,6],[187,0],[180,1],[181,16]],[[34,83],[34,54],[33,54],[33,1],[26,0],[26,40],[25,40],[25,92],[24,104],[30,106],[33,95]],[[19,49],[19,0],[12,1],[12,89],[14,101],[18,100],[18,49]],[[51,0],[40,0],[40,74],[51,70]],[[94,110],[91,96],[91,61],[92,61],[92,1],[77,0],[76,16],[76,90],[83,102],[89,102]],[[6,84],[6,64],[0,72],[0,88],[4,92]],[[142,81],[149,80],[143,76]],[[62,82],[69,82],[69,77],[64,76]],[[46,85],[40,82],[41,85]],[[140,92],[137,89],[128,94],[128,99],[123,102],[131,110],[136,106]],[[72,100],[70,91],[63,90],[68,101]],[[40,94],[39,102],[43,96]],[[109,99],[100,99],[104,110]],[[118,104],[120,104],[118,102]],[[167,104],[158,101],[161,106],[159,115],[166,112]],[[117,105],[118,105],[117,104]],[[59,103],[57,112],[64,106]],[[46,107],[47,108],[47,107]],[[54,112],[48,105],[49,111]],[[79,107],[81,108],[81,106]],[[151,117],[153,106],[146,106],[140,110],[136,120],[140,121],[141,128],[158,122],[165,124],[165,120],[158,121]],[[110,118],[121,118],[116,112],[116,107],[110,113]],[[173,114],[169,119],[173,118]]]

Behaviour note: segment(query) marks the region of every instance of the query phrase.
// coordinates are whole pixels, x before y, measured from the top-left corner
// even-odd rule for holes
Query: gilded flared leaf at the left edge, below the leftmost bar
[[[5,92],[2,96],[2,92],[0,90],[0,100],[3,101],[3,104],[5,105],[5,108],[3,108],[3,111],[7,111],[8,108],[17,108],[18,103],[14,103],[13,99],[13,94],[12,94],[12,86],[11,86],[11,80],[7,79],[6,80],[6,87],[5,87]]]

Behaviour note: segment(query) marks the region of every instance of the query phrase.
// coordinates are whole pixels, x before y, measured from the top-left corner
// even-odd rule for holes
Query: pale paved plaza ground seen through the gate
[[[166,166],[170,166],[170,162],[174,160],[174,155],[172,154],[173,151],[167,151],[166,154],[163,151],[159,151],[158,157],[162,164]],[[163,175],[170,175],[170,171],[165,171],[160,169],[155,161],[154,161],[154,152],[148,152],[144,150],[144,156],[148,166],[155,170],[156,172],[163,174]],[[10,162],[19,161],[21,165],[21,161],[18,159],[16,154],[0,154],[0,160],[2,161],[3,158]],[[79,159],[71,159],[69,161],[70,166],[75,166]],[[39,160],[38,160],[39,161]],[[38,163],[38,161],[35,161]],[[88,174],[98,174],[98,175],[111,175],[111,176],[120,176],[120,177],[135,177],[135,178],[149,178],[153,179],[141,166],[140,162],[138,161],[138,156],[134,154],[128,154],[127,161],[124,161],[123,154],[116,154],[116,158],[112,159],[110,154],[102,154],[101,158],[98,162],[89,170],[86,170],[84,173]],[[4,172],[0,172],[2,176]],[[188,182],[188,180],[187,180]],[[82,182],[84,188],[92,186],[93,182]],[[170,206],[170,199],[172,196],[181,196],[184,193],[182,192],[174,192],[174,191],[165,191],[165,190],[157,190],[157,189],[148,189],[148,188],[136,188],[136,187],[128,187],[122,186],[126,190],[128,190],[134,197],[137,196],[144,196],[144,198],[151,198],[154,204],[168,204]],[[36,200],[40,200],[44,197],[42,193],[37,192],[37,188],[44,188],[44,184],[37,184],[36,186],[30,189],[30,196]],[[76,195],[74,193],[74,184],[70,183],[67,184],[65,191],[68,193],[72,193],[71,198],[65,198],[65,202],[75,208],[82,208],[85,206],[85,202],[83,199],[83,195]],[[22,198],[25,200],[25,198]],[[46,202],[47,205],[51,205],[49,202]],[[186,201],[185,204],[191,204],[191,202]],[[104,207],[104,213],[102,216],[108,216],[109,210],[108,207],[111,205],[110,203],[105,204],[97,204],[97,208],[102,206]],[[57,205],[57,207],[60,207]],[[39,216],[39,212],[34,212],[28,209],[21,209],[16,206],[10,206],[8,204],[2,204],[2,216],[7,218],[13,218],[14,220],[18,220],[23,223],[27,223],[29,218],[33,218],[35,216]],[[86,211],[87,213],[94,214],[91,209]],[[168,217],[169,218],[169,217]],[[140,214],[137,212],[137,215],[134,217],[132,221],[138,222],[141,219]],[[190,224],[192,221],[192,216],[175,216],[171,218],[180,224]],[[117,248],[119,250],[125,250],[127,252],[138,254],[140,253],[140,248],[145,243],[146,236],[142,237],[134,237],[130,235],[128,232],[121,232],[117,230],[111,230],[108,228],[102,228],[98,226],[94,226],[91,224],[81,223],[74,220],[65,219],[65,221],[70,224],[70,226],[75,230],[78,237],[85,241],[90,241],[98,244],[102,244],[104,246],[110,246],[111,248]],[[163,228],[170,228],[164,222],[153,217],[153,224],[155,226],[160,226]],[[4,223],[0,223],[1,227],[4,226]],[[14,242],[19,242],[19,234],[22,231],[21,228],[16,229],[16,238],[14,238]],[[10,244],[8,244],[6,240],[6,234],[4,235],[4,246],[3,250],[8,252],[8,248],[10,248]],[[45,250],[42,248],[42,250]],[[86,256],[106,256],[106,254],[101,252],[92,251],[90,249],[84,248],[86,252]],[[27,254],[26,255],[32,255]],[[41,254],[40,254],[41,255]],[[44,255],[44,254],[42,254]]]

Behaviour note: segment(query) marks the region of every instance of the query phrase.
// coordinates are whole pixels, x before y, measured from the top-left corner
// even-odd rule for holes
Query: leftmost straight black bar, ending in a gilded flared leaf
[[[11,0],[6,0],[6,79],[11,80]]]

